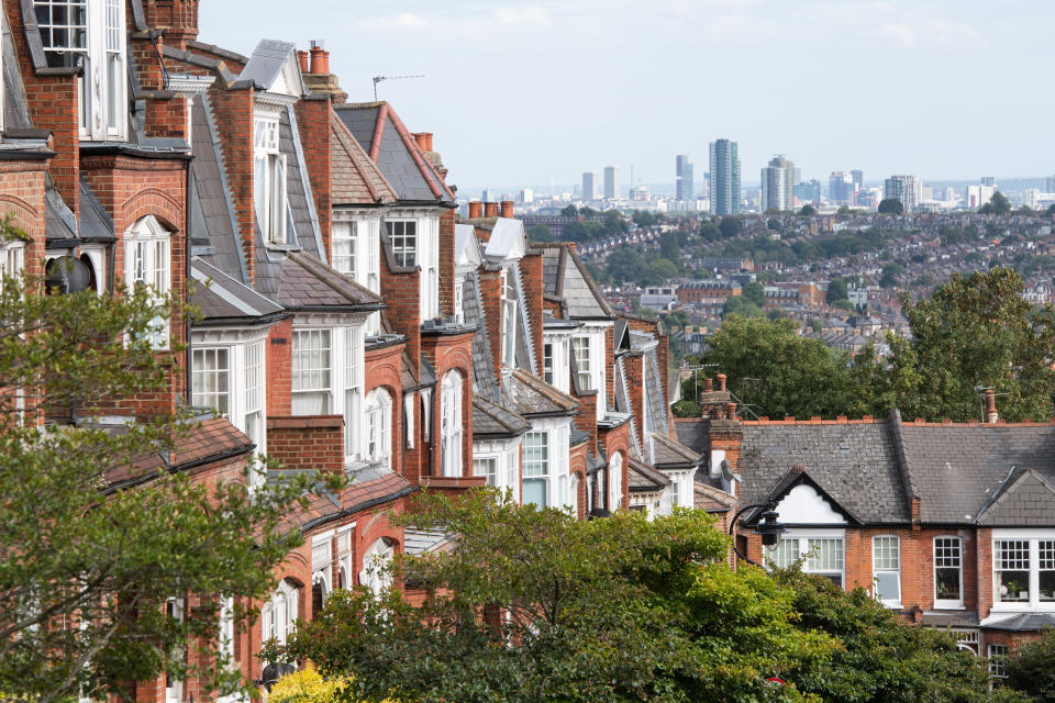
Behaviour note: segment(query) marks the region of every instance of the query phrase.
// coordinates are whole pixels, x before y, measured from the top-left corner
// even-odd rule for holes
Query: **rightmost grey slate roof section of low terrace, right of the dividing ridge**
[[[1035,469],[1046,480],[1055,479],[1053,425],[903,423],[901,436],[924,523],[970,523],[1013,467]],[[998,514],[1018,522],[1009,507]],[[990,515],[990,524],[996,516]]]

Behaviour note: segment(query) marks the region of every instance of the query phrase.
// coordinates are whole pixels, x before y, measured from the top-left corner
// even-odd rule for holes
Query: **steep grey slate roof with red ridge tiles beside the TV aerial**
[[[401,201],[454,205],[454,193],[387,102],[338,104],[334,111]]]

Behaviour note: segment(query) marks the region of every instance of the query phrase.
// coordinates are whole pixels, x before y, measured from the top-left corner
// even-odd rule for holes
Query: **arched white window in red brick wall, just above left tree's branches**
[[[153,298],[160,300],[171,287],[171,233],[154,215],[147,215],[132,225],[124,235],[124,282],[129,290],[147,286]],[[151,346],[167,349],[169,319],[158,305],[159,313],[148,332]]]

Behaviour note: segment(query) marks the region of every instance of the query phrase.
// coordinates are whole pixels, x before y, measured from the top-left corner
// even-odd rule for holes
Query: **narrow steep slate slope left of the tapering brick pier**
[[[195,98],[191,108],[191,142],[195,149],[195,188],[191,191],[191,241],[211,247],[204,258],[243,283],[248,269],[226,171],[220,135],[209,96]]]

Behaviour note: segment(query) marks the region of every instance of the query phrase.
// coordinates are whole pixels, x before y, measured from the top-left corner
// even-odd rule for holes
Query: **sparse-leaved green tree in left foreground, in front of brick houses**
[[[119,432],[38,424],[164,392],[180,348],[156,354],[148,331],[158,314],[182,316],[145,289],[43,292],[40,279],[0,284],[0,691],[100,700],[163,672],[201,677],[203,695],[229,691],[237,681],[215,657],[219,596],[270,592],[273,569],[300,542],[284,527],[288,509],[318,479],[252,493],[247,476],[221,484],[151,468],[195,431],[189,412]],[[189,593],[201,602],[181,622],[169,616],[168,600]],[[190,670],[171,656],[191,649],[214,663]]]

